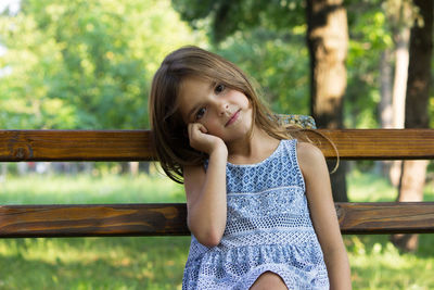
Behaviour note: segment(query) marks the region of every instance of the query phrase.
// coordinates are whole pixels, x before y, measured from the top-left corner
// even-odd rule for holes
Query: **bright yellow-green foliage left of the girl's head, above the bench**
[[[156,0],[26,0],[0,36],[0,124],[15,129],[144,128],[157,65],[200,39]]]

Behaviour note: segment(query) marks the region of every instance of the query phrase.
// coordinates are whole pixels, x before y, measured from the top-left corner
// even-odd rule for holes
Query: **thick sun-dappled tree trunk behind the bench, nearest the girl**
[[[307,45],[310,54],[310,110],[318,127],[343,127],[348,26],[343,0],[308,0]],[[331,175],[335,201],[347,201],[346,164]]]

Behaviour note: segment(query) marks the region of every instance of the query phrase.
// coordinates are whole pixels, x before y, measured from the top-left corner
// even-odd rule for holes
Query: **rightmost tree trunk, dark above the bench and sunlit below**
[[[414,0],[423,18],[423,26],[414,25],[410,38],[406,98],[406,128],[427,128],[430,98],[431,55],[433,47],[433,1]],[[400,177],[398,201],[422,201],[427,161],[405,161]],[[405,251],[418,247],[417,235],[395,235],[395,245]]]

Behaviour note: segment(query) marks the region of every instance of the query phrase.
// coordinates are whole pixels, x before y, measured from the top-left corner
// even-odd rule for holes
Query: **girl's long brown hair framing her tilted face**
[[[162,168],[173,180],[182,182],[183,166],[203,164],[207,157],[190,147],[187,125],[177,104],[182,80],[193,76],[243,92],[252,103],[253,122],[259,128],[277,139],[291,138],[237,65],[197,47],[180,48],[164,59],[154,75],[149,99],[154,150]]]

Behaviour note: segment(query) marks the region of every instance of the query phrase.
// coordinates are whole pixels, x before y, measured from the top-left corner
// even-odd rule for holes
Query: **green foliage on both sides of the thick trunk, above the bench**
[[[193,27],[205,29],[217,51],[240,65],[264,89],[271,109],[309,114],[309,60],[303,1],[173,1]],[[349,25],[348,127],[375,127],[379,61],[392,47],[381,1],[345,1]]]

